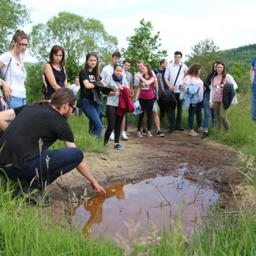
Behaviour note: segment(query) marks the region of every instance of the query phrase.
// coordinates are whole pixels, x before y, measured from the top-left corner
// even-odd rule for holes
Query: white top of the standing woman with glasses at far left
[[[11,63],[7,70],[10,60],[11,60]],[[16,60],[16,58],[13,57],[10,52],[4,52],[0,56],[0,61],[3,62],[5,65],[3,68],[1,68],[2,78],[4,79],[4,75],[7,71],[5,76],[5,82],[11,87],[12,96],[18,97],[18,98],[26,98],[26,88],[24,85],[25,68],[24,68],[23,61],[21,60],[21,64],[20,64],[20,62]]]

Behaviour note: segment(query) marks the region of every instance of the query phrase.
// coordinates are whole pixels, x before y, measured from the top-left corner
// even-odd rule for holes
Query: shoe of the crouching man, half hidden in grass
[[[49,195],[44,195],[42,192],[33,192],[36,188],[30,188],[29,184],[25,182],[20,188],[21,196],[28,198],[29,201],[39,204],[41,206],[49,206],[52,204],[52,198]]]

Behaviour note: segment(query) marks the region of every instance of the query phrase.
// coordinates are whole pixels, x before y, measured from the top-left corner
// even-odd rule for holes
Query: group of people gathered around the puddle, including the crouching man
[[[4,92],[4,95],[0,92],[0,108],[6,110],[0,112],[0,129],[3,132],[0,138],[0,167],[9,178],[23,181],[22,195],[36,188],[38,192],[30,199],[35,202],[40,200],[45,205],[51,203],[51,198],[44,194],[45,183],[51,184],[61,173],[73,168],[77,168],[91,182],[96,192],[104,192],[90,174],[82,151],[76,148],[67,119],[72,113],[79,113],[76,108],[79,100],[81,111],[89,119],[89,132],[100,139],[103,131],[100,106],[105,94],[108,127],[104,134],[104,145],[114,140],[114,148],[122,150],[119,140],[120,137],[128,140],[128,116],[127,112],[120,111],[120,101],[129,102],[133,95],[133,76],[128,72],[131,62],[120,62],[120,52],[113,52],[111,63],[100,72],[97,54],[89,52],[84,68],[69,89],[64,48],[54,45],[49,62],[44,65],[44,100],[26,105],[23,57],[28,43],[25,32],[18,30],[12,38],[10,50],[0,56],[0,83]],[[198,135],[194,130],[195,115],[197,131],[204,132],[203,138],[208,136],[211,116],[212,122],[216,120],[220,130],[223,126],[226,131],[229,130],[228,110],[231,103],[237,103],[237,84],[227,74],[224,62],[216,60],[212,72],[203,83],[199,78],[201,65],[193,64],[188,68],[181,59],[182,53],[175,52],[172,63],[168,64],[166,59],[160,60],[160,66],[155,70],[143,60],[136,62],[138,72],[134,73],[134,102],[139,100],[141,110],[137,137],[152,137],[152,119],[156,124],[156,136],[163,137],[160,124],[165,116],[170,122],[169,133],[184,131],[184,102],[188,110],[190,136]],[[174,107],[164,103],[166,91],[172,92],[175,97]],[[204,128],[201,126],[203,108]],[[66,148],[49,150],[58,139],[64,141]]]

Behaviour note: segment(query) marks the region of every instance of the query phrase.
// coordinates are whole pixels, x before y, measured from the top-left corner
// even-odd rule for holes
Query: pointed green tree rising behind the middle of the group
[[[159,66],[159,61],[167,56],[166,50],[159,50],[160,32],[154,34],[153,26],[150,21],[140,20],[140,27],[134,29],[135,34],[127,37],[128,48],[123,49],[123,56],[131,60],[132,71],[135,71],[136,60],[144,60],[152,68]]]

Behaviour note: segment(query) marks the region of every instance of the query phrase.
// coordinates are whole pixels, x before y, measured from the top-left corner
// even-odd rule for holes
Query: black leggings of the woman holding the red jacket
[[[121,133],[121,124],[124,119],[124,114],[122,116],[117,116],[117,107],[107,105],[107,120],[108,127],[105,132],[104,144],[108,143],[111,132],[115,128],[115,143],[119,143],[120,133]]]

